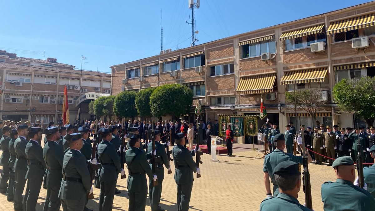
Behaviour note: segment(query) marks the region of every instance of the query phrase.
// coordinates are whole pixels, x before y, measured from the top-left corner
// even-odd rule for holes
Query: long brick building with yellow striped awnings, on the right
[[[375,75],[374,11],[375,2],[365,3],[114,65],[112,75],[120,77],[113,78],[112,91],[184,84],[194,92],[193,105],[202,99],[204,118],[211,120],[258,115],[263,95],[268,118],[284,130],[289,121],[297,123],[285,92],[316,87],[326,101],[317,120],[352,127],[353,114],[337,107],[332,89],[342,78]],[[193,115],[185,118],[192,121]],[[315,125],[303,111],[297,118]]]

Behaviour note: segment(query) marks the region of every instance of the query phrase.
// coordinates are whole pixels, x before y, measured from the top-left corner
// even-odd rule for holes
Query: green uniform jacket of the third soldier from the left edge
[[[24,137],[18,136],[14,141],[14,149],[16,151],[17,159],[14,162],[13,172],[17,174],[25,175],[27,171],[27,160],[26,160],[26,144],[27,140]]]

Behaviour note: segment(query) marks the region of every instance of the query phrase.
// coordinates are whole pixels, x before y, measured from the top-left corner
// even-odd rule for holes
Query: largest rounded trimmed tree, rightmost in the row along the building
[[[181,116],[192,105],[193,92],[181,84],[165,84],[157,87],[150,96],[153,116]]]

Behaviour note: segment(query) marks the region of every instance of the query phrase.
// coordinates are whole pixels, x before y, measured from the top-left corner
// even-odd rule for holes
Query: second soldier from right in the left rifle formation
[[[167,168],[170,169],[169,167],[169,159],[168,155],[166,154],[165,151],[165,145],[169,146],[169,142],[165,144],[160,143],[160,132],[159,131],[154,131],[154,137],[153,140],[155,141],[155,174],[157,176],[157,182],[159,183],[157,186],[153,187],[153,182],[152,180],[149,181],[148,184],[148,199],[150,199],[150,205],[151,205],[151,211],[164,211],[159,206],[160,203],[160,197],[162,194],[162,185],[163,185],[163,179],[164,179],[164,167],[163,165]],[[152,143],[148,144],[148,152],[152,151]],[[152,158],[148,162],[150,164],[150,167],[152,169],[152,163],[153,160]]]

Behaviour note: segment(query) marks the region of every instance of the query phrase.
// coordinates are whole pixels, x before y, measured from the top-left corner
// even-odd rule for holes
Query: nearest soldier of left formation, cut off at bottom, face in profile
[[[63,180],[58,196],[64,211],[82,211],[88,193],[93,192],[86,157],[80,151],[83,139],[80,133],[66,134],[64,139],[69,150],[64,155]]]

